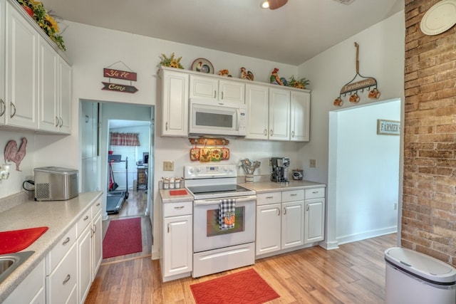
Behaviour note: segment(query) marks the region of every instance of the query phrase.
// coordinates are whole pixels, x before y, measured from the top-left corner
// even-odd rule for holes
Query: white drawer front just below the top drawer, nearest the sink
[[[76,244],[70,248],[66,256],[58,264],[50,276],[46,277],[46,303],[67,303],[76,285],[77,277]]]

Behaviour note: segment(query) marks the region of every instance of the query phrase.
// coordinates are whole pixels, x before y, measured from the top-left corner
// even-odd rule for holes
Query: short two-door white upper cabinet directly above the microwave
[[[190,98],[245,103],[245,84],[234,80],[190,75]]]

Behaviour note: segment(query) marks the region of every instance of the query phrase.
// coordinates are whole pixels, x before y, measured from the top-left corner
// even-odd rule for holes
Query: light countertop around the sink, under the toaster
[[[23,250],[35,253],[0,283],[0,303],[45,258],[101,194],[103,192],[81,193],[68,201],[27,201],[0,212],[0,231],[48,227],[48,231]]]

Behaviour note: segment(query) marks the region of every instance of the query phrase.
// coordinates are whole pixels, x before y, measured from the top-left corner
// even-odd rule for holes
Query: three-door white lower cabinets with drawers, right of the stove
[[[324,193],[317,188],[257,194],[256,256],[323,241]]]

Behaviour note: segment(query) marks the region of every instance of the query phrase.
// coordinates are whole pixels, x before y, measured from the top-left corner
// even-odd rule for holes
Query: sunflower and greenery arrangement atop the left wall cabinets
[[[48,14],[40,1],[36,0],[17,0],[19,4],[26,10],[26,12],[38,23],[38,26],[43,28],[43,31],[54,41],[58,48],[66,51],[63,37],[58,34],[60,29],[56,19]]]

